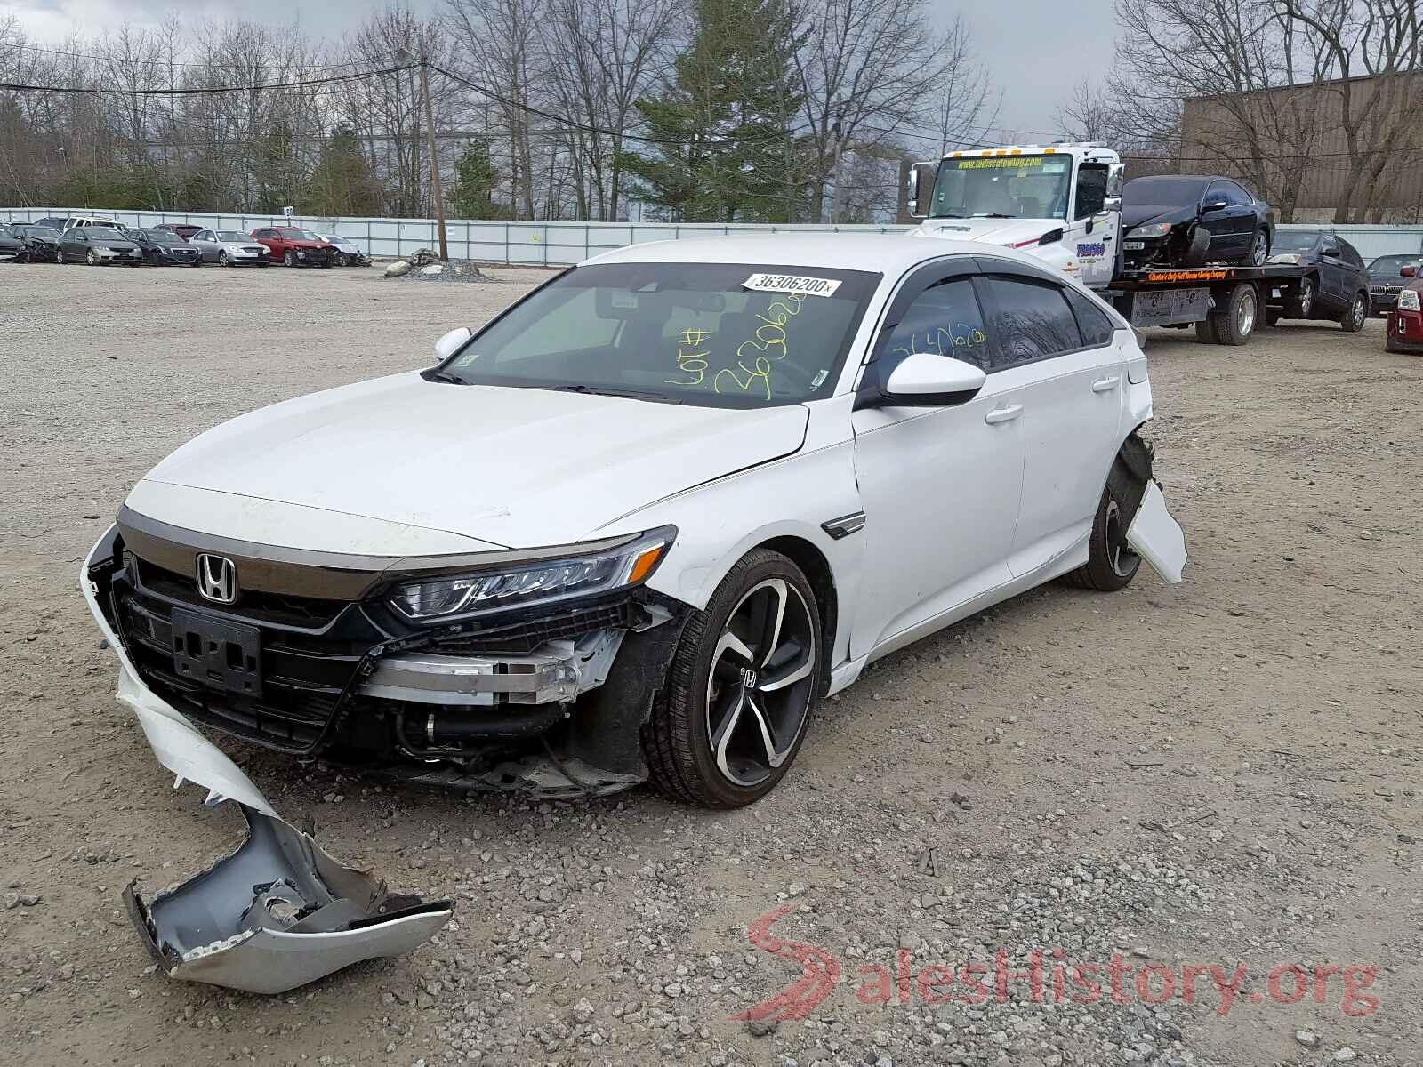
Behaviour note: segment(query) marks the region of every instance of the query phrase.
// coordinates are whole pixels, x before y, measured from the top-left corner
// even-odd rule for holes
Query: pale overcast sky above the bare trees
[[[13,11],[26,33],[50,43],[125,20],[158,23],[169,10],[176,10],[185,21],[208,16],[273,26],[295,21],[313,37],[340,37],[381,6],[353,0],[0,0],[0,14]],[[411,0],[417,10],[438,6],[440,0]],[[966,17],[983,63],[1003,90],[999,121],[1023,131],[1022,141],[1050,135],[1056,129],[1053,115],[1073,85],[1100,75],[1116,38],[1111,7],[1111,0],[929,0],[929,9],[941,13],[945,23],[955,11]],[[1072,16],[1066,20],[1069,9]],[[1072,40],[1094,44],[1066,46],[1069,28]]]

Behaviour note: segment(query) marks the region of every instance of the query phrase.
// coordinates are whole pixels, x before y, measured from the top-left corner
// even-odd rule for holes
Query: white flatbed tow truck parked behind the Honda
[[[1194,326],[1205,344],[1245,344],[1268,307],[1298,299],[1306,272],[1292,265],[1126,269],[1124,179],[1121,156],[1097,142],[953,151],[912,165],[908,208],[922,222],[911,233],[1032,252],[1133,326]]]

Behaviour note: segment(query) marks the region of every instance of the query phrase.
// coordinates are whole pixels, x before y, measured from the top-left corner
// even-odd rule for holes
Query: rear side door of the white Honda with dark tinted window
[[[1094,300],[1015,263],[980,259],[975,280],[999,374],[1023,403],[1023,502],[1007,566],[1027,575],[1079,545],[1120,447],[1124,370]]]

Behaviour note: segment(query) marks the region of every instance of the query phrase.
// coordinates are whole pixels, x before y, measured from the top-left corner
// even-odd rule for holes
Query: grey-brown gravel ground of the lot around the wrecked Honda
[[[332,854],[458,911],[289,996],[157,975],[121,888],[240,819],[112,701],[80,559],[191,435],[428,363],[546,277],[490,273],[0,266],[0,1060],[1423,1061],[1423,360],[1379,322],[1154,333],[1187,580],[1054,585],[889,657],[750,809],[391,788],[222,740]],[[803,965],[822,1000],[753,1007]]]

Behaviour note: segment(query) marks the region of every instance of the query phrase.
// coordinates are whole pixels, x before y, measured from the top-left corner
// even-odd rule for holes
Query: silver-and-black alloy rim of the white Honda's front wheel
[[[815,632],[811,607],[780,578],[727,616],[707,677],[707,738],[734,785],[764,782],[795,750],[815,693]]]

